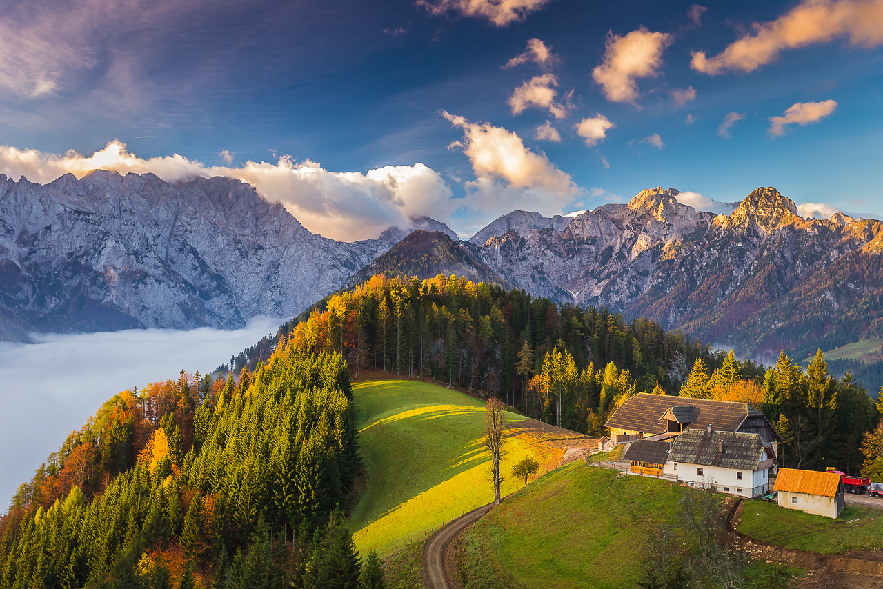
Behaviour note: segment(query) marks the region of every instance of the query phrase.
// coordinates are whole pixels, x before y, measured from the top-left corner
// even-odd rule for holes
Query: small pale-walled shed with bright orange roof
[[[840,476],[840,472],[779,469],[774,488],[779,507],[836,519],[844,505]]]

